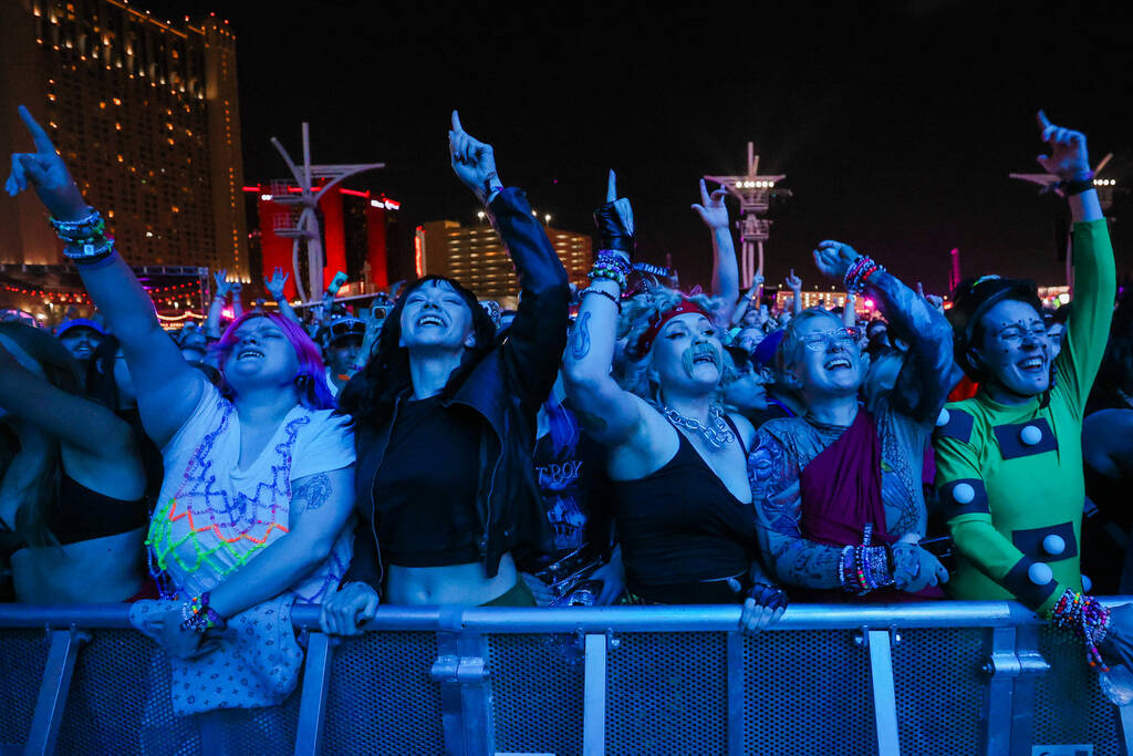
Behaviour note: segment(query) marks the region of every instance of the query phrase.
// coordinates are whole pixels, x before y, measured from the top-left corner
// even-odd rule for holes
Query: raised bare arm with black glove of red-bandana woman
[[[633,211],[629,199],[617,198],[616,180],[610,171],[606,204],[595,212],[602,249],[596,274],[582,290],[582,304],[563,357],[563,382],[574,414],[587,433],[611,447],[628,443],[644,430],[639,400],[623,391],[610,372],[617,342],[623,273],[633,248]]]

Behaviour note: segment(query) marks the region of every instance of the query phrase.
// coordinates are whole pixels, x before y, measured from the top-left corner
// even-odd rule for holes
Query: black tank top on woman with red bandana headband
[[[664,586],[746,575],[757,553],[755,506],[732,495],[684,434],[676,436],[676,453],[661,469],[614,482],[628,588],[664,603],[688,603],[666,601]]]

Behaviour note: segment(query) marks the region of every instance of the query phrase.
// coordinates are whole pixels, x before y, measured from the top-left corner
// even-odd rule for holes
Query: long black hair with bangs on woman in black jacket
[[[398,297],[393,308],[385,318],[382,334],[374,345],[374,351],[357,375],[350,379],[347,388],[339,396],[339,406],[353,416],[356,423],[367,423],[374,427],[383,425],[393,410],[398,396],[410,388],[409,350],[399,346],[401,341],[401,312],[406,308],[406,299],[417,289],[426,284],[438,286],[448,283],[452,290],[468,305],[472,315],[472,333],[476,346],[465,350],[460,367],[449,376],[449,382],[441,392],[442,397],[451,397],[463,382],[471,369],[495,347],[495,324],[492,317],[480,307],[476,295],[462,287],[458,281],[444,275],[426,275],[408,287]]]

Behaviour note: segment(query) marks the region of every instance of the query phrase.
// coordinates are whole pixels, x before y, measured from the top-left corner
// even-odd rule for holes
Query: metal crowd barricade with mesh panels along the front
[[[1107,598],[1125,603],[1124,597]],[[282,706],[178,719],[129,608],[0,606],[0,754],[1128,754],[1133,707],[1010,602],[383,606],[356,638],[296,606]],[[1033,749],[1033,750],[1032,750]]]

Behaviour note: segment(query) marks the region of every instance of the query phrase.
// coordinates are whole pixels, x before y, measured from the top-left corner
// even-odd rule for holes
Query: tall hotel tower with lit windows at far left
[[[228,269],[247,281],[236,37],[119,0],[0,2],[0,150],[28,151],[26,104],[133,265]],[[0,203],[0,262],[62,245],[34,197]]]

